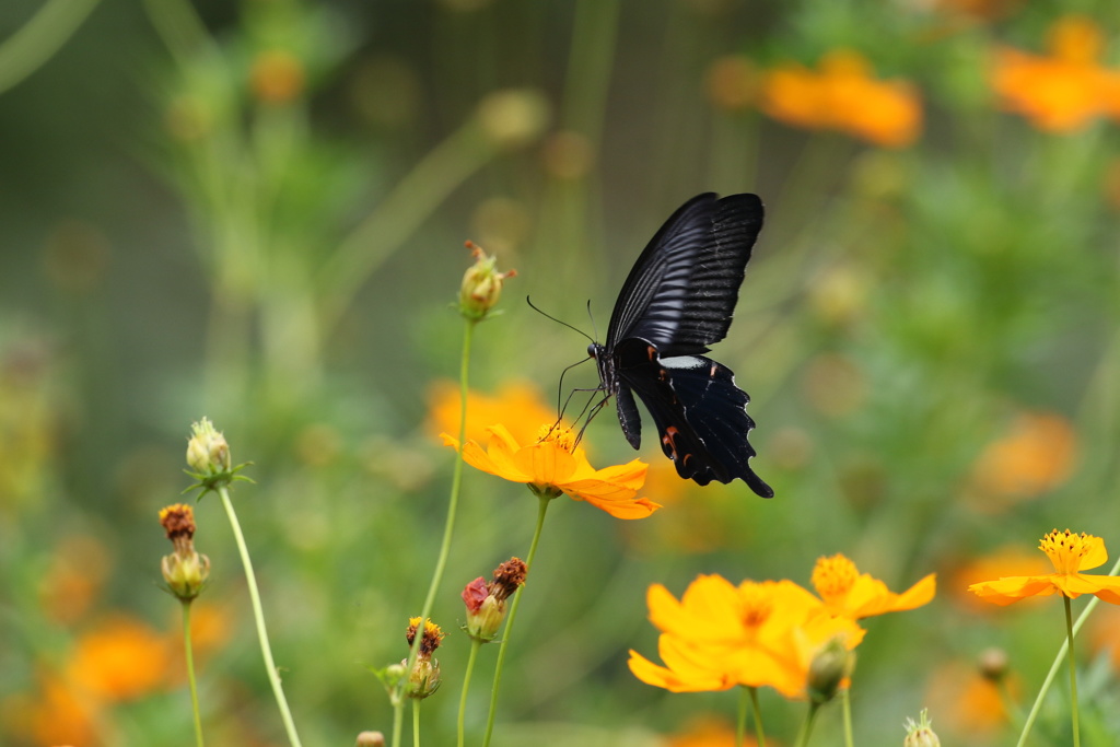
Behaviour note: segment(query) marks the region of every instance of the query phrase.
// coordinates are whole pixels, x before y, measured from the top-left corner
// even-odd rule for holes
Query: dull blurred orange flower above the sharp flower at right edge
[[[977,506],[997,510],[1007,501],[1053,489],[1073,471],[1077,433],[1068,420],[1049,412],[1023,412],[1008,432],[989,443],[969,480]]]

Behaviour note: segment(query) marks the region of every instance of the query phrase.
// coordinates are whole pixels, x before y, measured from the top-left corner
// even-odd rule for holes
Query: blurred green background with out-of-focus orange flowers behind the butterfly
[[[1029,706],[1061,606],[963,589],[1043,561],[1053,526],[1120,548],[1118,28],[1107,0],[4,3],[0,744],[193,738],[156,514],[202,415],[254,463],[235,499],[304,743],[388,730],[366,666],[405,655],[440,539],[454,423],[429,412],[458,368],[463,242],[519,271],[472,384],[551,407],[586,340],[524,297],[589,333],[590,300],[601,336],[645,242],[708,190],[767,205],[716,356],[777,497],[684,484],[647,442],[662,511],[559,502],[496,744],[729,744],[681,735],[731,718],[730,693],[627,671],[655,653],[645,589],[808,583],[836,552],[896,590],[939,573],[932,605],[868,622],[857,743],[899,744],[924,706],[949,744],[1014,743],[1000,688]],[[1000,90],[1008,49],[1037,64]],[[633,456],[613,414],[587,442],[597,466]],[[535,517],[519,486],[468,470],[464,489],[429,744],[454,735],[458,591],[523,555]],[[197,506],[207,737],[282,744],[221,514]],[[1116,629],[1102,615],[1081,652],[1090,744],[1120,739]],[[989,646],[999,687],[974,665]],[[1066,700],[1036,744],[1066,744]],[[801,706],[763,707],[792,741]],[[825,710],[814,744],[838,725]]]

